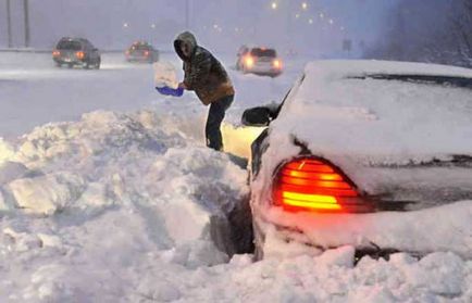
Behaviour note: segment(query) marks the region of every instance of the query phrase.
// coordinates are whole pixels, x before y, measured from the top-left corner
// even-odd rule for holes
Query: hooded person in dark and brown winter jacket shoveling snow
[[[195,91],[204,105],[210,105],[206,125],[207,147],[222,151],[221,123],[234,100],[235,90],[223,65],[195,36],[185,31],[174,41],[175,52],[184,62],[184,80],[178,87]]]

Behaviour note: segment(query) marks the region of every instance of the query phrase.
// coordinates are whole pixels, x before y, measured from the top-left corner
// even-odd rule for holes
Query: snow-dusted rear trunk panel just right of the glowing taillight
[[[388,164],[334,159],[377,210],[421,210],[472,200],[472,155]]]

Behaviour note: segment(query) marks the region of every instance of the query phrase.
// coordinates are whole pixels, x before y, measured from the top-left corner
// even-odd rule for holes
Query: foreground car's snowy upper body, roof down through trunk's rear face
[[[472,90],[372,75],[472,78],[472,71],[378,61],[310,63],[271,125],[271,146],[285,151],[278,157],[297,153],[280,143],[296,138],[368,193],[467,198],[472,192]]]

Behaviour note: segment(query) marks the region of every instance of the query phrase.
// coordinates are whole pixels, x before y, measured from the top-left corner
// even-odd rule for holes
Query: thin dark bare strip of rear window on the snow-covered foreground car
[[[377,79],[377,80],[398,80],[405,83],[415,83],[425,85],[442,85],[472,89],[472,78],[435,75],[392,75],[392,74],[371,74],[362,76],[351,76],[351,79]]]

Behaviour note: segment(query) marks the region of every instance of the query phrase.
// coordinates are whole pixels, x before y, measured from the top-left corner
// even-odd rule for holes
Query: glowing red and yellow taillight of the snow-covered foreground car
[[[296,159],[277,172],[273,202],[285,211],[368,212],[356,186],[334,165],[319,159]]]

